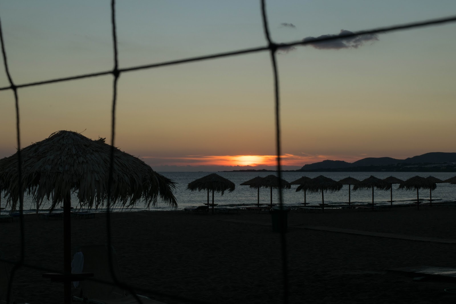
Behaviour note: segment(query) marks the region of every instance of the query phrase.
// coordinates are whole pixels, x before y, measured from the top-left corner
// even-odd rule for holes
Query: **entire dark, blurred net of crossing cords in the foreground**
[[[172,61],[167,61],[167,62],[158,62],[158,63],[150,63],[150,64],[145,64],[145,65],[139,65],[139,66],[133,66],[133,67],[126,67],[126,68],[119,68],[119,62],[118,62],[118,42],[117,42],[117,32],[116,32],[116,20],[115,20],[115,0],[111,0],[111,26],[112,26],[112,39],[113,39],[113,53],[114,53],[114,67],[112,70],[109,71],[102,71],[102,72],[94,72],[94,73],[86,73],[86,74],[81,74],[81,75],[75,75],[75,76],[69,76],[69,77],[58,77],[58,78],[53,78],[49,80],[42,80],[42,81],[35,81],[35,82],[27,82],[27,83],[22,83],[19,85],[16,85],[12,77],[10,75],[10,70],[8,66],[8,60],[6,56],[6,51],[5,51],[5,43],[3,39],[3,30],[1,26],[1,14],[0,14],[0,43],[1,43],[1,51],[2,51],[2,57],[3,57],[3,63],[4,63],[4,69],[5,73],[9,82],[8,86],[5,87],[0,87],[0,91],[5,91],[5,90],[11,90],[14,93],[14,100],[15,100],[15,111],[16,111],[16,141],[17,141],[17,157],[18,157],[18,179],[21,181],[22,180],[22,172],[21,172],[21,130],[20,130],[20,111],[19,111],[19,96],[18,96],[18,89],[20,88],[27,88],[27,87],[35,87],[35,86],[40,86],[40,85],[45,85],[45,84],[51,84],[51,83],[58,83],[58,82],[66,82],[66,81],[72,81],[72,80],[78,80],[78,79],[83,79],[83,78],[91,78],[91,77],[98,77],[98,76],[105,76],[112,74],[113,75],[113,96],[112,96],[112,111],[111,111],[111,158],[110,158],[110,168],[109,168],[109,184],[108,184],[108,193],[110,193],[110,187],[112,184],[112,178],[113,178],[113,163],[114,163],[114,139],[115,139],[115,118],[116,118],[116,105],[117,105],[117,85],[119,81],[119,77],[122,73],[124,72],[133,72],[133,71],[139,71],[139,70],[145,70],[145,69],[151,69],[151,68],[156,68],[156,67],[165,67],[165,66],[173,66],[177,64],[183,64],[183,63],[190,63],[190,62],[200,62],[200,61],[205,61],[205,60],[210,60],[210,59],[217,59],[217,58],[222,58],[222,57],[232,57],[232,56],[238,56],[238,55],[244,55],[244,54],[250,54],[250,53],[255,53],[255,52],[264,52],[268,51],[270,54],[270,62],[271,62],[271,67],[272,67],[272,72],[273,72],[273,77],[274,77],[274,95],[275,95],[275,145],[276,145],[276,162],[277,162],[277,176],[279,178],[279,206],[280,209],[283,210],[283,198],[282,198],[282,190],[280,187],[281,184],[281,164],[280,164],[280,155],[281,155],[281,144],[280,144],[280,98],[279,98],[279,77],[278,77],[278,66],[277,66],[277,61],[276,61],[276,53],[278,50],[281,48],[288,48],[291,46],[298,46],[298,45],[307,45],[307,44],[314,44],[316,42],[323,42],[323,41],[331,41],[331,40],[337,40],[340,39],[340,36],[327,36],[323,38],[314,38],[314,39],[309,39],[306,41],[293,41],[289,43],[280,43],[277,44],[274,41],[272,41],[269,33],[269,22],[267,18],[267,13],[266,13],[266,4],[265,0],[260,0],[260,10],[261,10],[261,15],[262,15],[262,22],[263,22],[263,30],[264,30],[264,36],[265,40],[267,41],[266,46],[257,46],[257,47],[252,47],[252,48],[247,48],[247,49],[241,49],[241,50],[236,50],[236,51],[231,51],[231,52],[221,52],[221,53],[216,53],[216,54],[209,54],[209,55],[204,55],[204,56],[199,56],[199,57],[189,57],[189,58],[183,58],[183,59],[178,59],[178,60],[172,60]],[[355,36],[360,36],[360,35],[368,35],[368,34],[378,34],[378,33],[386,33],[386,32],[391,32],[391,31],[399,31],[399,30],[406,30],[406,29],[412,29],[412,28],[419,28],[419,27],[425,27],[425,26],[432,26],[432,25],[440,25],[440,24],[446,24],[450,22],[455,22],[456,21],[456,15],[453,16],[448,16],[444,18],[439,18],[439,19],[433,19],[433,20],[427,20],[427,21],[416,21],[412,23],[406,23],[406,24],[398,24],[394,26],[385,26],[385,27],[380,27],[376,29],[371,29],[371,30],[364,30],[364,31],[356,31],[353,32],[352,34],[344,35],[344,38],[349,38],[349,37],[355,37]],[[21,192],[23,193],[23,185],[20,182],[19,187]],[[21,268],[29,268],[29,269],[34,269],[34,270],[40,270],[40,271],[46,271],[46,272],[53,272],[53,273],[62,273],[61,270],[57,269],[49,269],[49,268],[42,268],[36,265],[31,265],[27,264],[25,261],[25,239],[24,239],[24,234],[25,234],[25,226],[24,226],[24,218],[23,218],[23,196],[19,197],[19,223],[20,223],[20,244],[21,244],[21,252],[20,252],[20,257],[17,260],[8,260],[5,258],[0,258],[0,261],[3,261],[5,263],[12,264],[12,270],[10,272],[10,278],[9,278],[9,283],[8,283],[8,293],[7,293],[7,303],[10,303],[11,299],[11,293],[12,293],[12,282],[15,278],[16,271]],[[196,299],[190,299],[187,297],[182,297],[176,294],[168,294],[161,292],[159,290],[153,290],[153,289],[145,289],[145,288],[140,288],[136,286],[131,286],[125,282],[119,281],[119,278],[116,278],[114,274],[114,268],[113,268],[113,256],[111,250],[109,248],[111,247],[111,219],[110,219],[110,207],[111,207],[111,201],[110,201],[110,196],[108,196],[107,199],[107,211],[106,211],[106,228],[107,228],[107,256],[109,260],[109,265],[110,265],[110,272],[111,276],[113,278],[114,282],[108,282],[104,280],[99,280],[96,278],[86,278],[86,280],[90,280],[93,282],[98,282],[98,283],[106,283],[110,285],[116,285],[119,286],[122,289],[126,289],[130,292],[130,294],[133,294],[135,296],[135,300],[138,303],[142,303],[141,299],[136,295],[136,292],[142,292],[142,293],[148,293],[151,295],[155,296],[162,296],[162,297],[168,297],[170,299],[176,299],[176,300],[182,300],[186,301],[189,303],[207,303],[201,300],[196,300]],[[282,273],[283,273],[283,303],[288,303],[288,258],[287,258],[287,243],[286,243],[286,235],[285,232],[281,231],[280,233],[280,252],[282,256]]]

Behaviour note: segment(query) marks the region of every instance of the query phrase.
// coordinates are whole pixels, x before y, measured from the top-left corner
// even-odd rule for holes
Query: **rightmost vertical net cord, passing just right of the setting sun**
[[[274,73],[274,89],[275,89],[275,133],[276,133],[276,149],[277,149],[277,177],[279,178],[279,203],[280,212],[283,210],[282,198],[282,174],[280,165],[280,97],[279,97],[279,75],[277,72],[277,62],[275,54],[277,52],[277,44],[271,41],[268,27],[268,18],[266,15],[265,0],[261,0],[261,13],[263,17],[264,36],[269,43],[269,50],[271,55],[271,64]],[[283,300],[284,304],[288,303],[288,258],[287,258],[287,243],[285,229],[280,229],[280,249],[282,252],[282,273],[283,273]]]

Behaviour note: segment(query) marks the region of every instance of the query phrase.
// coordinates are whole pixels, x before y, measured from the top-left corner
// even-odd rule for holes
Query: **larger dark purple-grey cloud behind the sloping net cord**
[[[331,37],[340,37],[339,39],[334,39],[334,40],[328,40],[328,41],[320,41],[320,42],[313,42],[309,43],[309,46],[313,46],[316,49],[334,49],[334,50],[339,50],[339,49],[347,49],[347,48],[358,48],[358,46],[362,46],[364,42],[367,41],[378,41],[378,37],[375,34],[366,34],[366,35],[358,35],[358,36],[351,36],[351,37],[345,37],[347,35],[352,35],[352,31],[346,31],[346,30],[341,30],[341,32],[337,35],[321,35],[318,37],[306,37],[302,40],[302,42],[308,42],[312,41],[314,39],[325,39],[325,38],[331,38]]]

